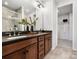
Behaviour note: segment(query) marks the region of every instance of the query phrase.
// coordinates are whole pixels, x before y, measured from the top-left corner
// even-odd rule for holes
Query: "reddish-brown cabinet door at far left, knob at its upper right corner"
[[[3,59],[25,59],[25,49],[4,56]]]

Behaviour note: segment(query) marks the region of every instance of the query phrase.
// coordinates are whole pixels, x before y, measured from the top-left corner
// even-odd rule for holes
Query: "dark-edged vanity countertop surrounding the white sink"
[[[10,37],[3,36],[2,37],[2,45],[4,46],[7,44],[15,43],[17,41],[27,40],[29,38],[33,38],[33,37],[37,37],[37,36],[41,36],[41,35],[46,35],[46,34],[48,34],[48,33],[24,34],[24,35],[22,35],[24,37],[14,38],[14,39],[8,39]]]

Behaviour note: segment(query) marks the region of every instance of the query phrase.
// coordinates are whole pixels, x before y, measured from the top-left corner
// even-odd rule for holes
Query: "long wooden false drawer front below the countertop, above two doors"
[[[6,45],[6,46],[3,46],[2,47],[2,54],[3,56],[7,55],[7,54],[10,54],[10,53],[13,53],[14,51],[17,51],[19,49],[22,49],[28,45],[31,45],[33,43],[36,43],[37,42],[37,38],[31,38],[31,39],[26,39],[24,41],[19,41],[19,42],[16,42],[16,43],[12,43],[12,44],[9,44],[9,45]]]

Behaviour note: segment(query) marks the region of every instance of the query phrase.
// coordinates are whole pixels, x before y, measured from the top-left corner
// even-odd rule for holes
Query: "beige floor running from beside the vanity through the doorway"
[[[71,41],[59,40],[57,48],[51,50],[44,59],[77,59],[76,51],[73,51],[71,47]]]

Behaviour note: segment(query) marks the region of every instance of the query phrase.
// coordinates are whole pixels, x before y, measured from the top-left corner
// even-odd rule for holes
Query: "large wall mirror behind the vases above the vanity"
[[[44,29],[43,9],[47,0],[2,0],[2,31],[24,31],[23,19],[33,20],[36,30]],[[38,19],[38,21],[36,21]],[[24,20],[23,20],[24,21]],[[35,25],[36,24],[36,25]],[[35,28],[34,28],[35,29]]]

